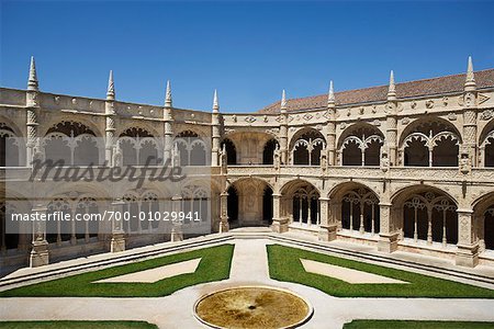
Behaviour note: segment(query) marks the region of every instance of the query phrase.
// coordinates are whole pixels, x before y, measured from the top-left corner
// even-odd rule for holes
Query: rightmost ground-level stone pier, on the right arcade
[[[479,241],[474,238],[473,211],[458,209],[457,265],[474,268],[479,263]]]

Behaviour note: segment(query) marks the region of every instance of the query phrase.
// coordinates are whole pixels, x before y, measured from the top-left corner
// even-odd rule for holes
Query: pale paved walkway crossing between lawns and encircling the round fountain
[[[315,288],[269,279],[268,240],[235,240],[231,279],[187,287],[160,298],[2,298],[2,320],[145,320],[160,328],[204,328],[193,316],[205,293],[240,284],[291,290],[314,307],[301,328],[340,328],[351,319],[420,319],[494,321],[493,299],[336,298]]]

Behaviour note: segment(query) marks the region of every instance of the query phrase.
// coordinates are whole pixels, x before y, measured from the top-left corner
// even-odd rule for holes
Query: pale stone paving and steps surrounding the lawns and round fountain
[[[282,238],[282,239],[279,239]],[[290,290],[306,298],[314,307],[312,318],[301,328],[341,328],[352,319],[415,319],[494,321],[494,299],[474,298],[338,298],[316,288],[280,282],[269,277],[266,246],[278,243],[312,249],[322,253],[348,251],[339,257],[379,263],[388,259],[388,266],[426,273],[452,281],[494,290],[494,268],[479,265],[458,268],[449,260],[395,252],[382,254],[374,248],[343,241],[318,242],[300,234],[274,235],[266,229],[236,229],[228,234],[211,235],[180,242],[166,242],[127,250],[121,253],[97,254],[88,258],[22,269],[0,280],[0,291],[15,285],[52,280],[60,275],[92,271],[128,262],[133,257],[149,258],[220,243],[235,243],[228,280],[182,288],[157,298],[120,297],[7,297],[1,298],[0,319],[5,320],[144,320],[159,328],[204,328],[193,315],[198,298],[225,287],[268,285]],[[316,250],[321,247],[321,250]],[[333,249],[324,249],[330,247]],[[395,260],[396,262],[392,262]],[[398,262],[401,261],[401,262]],[[383,264],[383,263],[380,263]],[[407,265],[409,264],[409,265]],[[442,269],[444,271],[428,271]],[[483,280],[479,280],[483,277]],[[434,288],[434,287],[431,287]]]

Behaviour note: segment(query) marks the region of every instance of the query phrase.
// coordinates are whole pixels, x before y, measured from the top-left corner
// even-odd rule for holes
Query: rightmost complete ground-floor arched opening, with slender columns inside
[[[412,194],[403,204],[403,236],[414,242],[456,245],[458,214],[454,202],[440,192]]]

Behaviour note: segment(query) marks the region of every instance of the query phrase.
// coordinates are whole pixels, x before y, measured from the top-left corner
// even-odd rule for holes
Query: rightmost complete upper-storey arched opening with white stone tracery
[[[404,166],[458,167],[460,144],[460,134],[447,121],[418,120],[403,132],[400,157]]]

